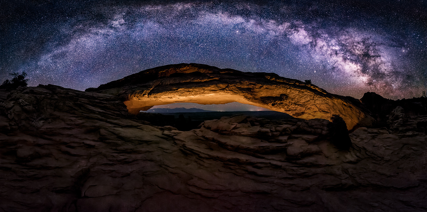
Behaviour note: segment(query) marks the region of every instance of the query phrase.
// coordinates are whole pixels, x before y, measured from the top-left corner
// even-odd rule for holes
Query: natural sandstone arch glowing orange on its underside
[[[330,94],[312,84],[274,73],[240,72],[196,63],[147,69],[86,91],[118,96],[135,114],[177,102],[240,102],[307,120],[329,119],[337,114],[348,129],[369,126],[373,121],[359,100]]]

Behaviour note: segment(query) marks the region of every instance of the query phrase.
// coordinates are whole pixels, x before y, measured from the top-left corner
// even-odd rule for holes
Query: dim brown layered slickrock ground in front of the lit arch
[[[0,90],[0,211],[425,211],[427,116],[328,141],[328,120],[247,116],[183,132],[117,97]],[[424,125],[423,125],[424,126]]]

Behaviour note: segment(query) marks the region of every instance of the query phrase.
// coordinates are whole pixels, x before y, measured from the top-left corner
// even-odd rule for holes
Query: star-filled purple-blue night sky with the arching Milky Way
[[[310,79],[330,93],[421,96],[427,0],[2,1],[0,80],[85,90],[203,63]]]

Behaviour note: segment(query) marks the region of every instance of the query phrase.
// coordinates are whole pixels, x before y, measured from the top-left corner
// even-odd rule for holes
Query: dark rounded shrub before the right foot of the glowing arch
[[[338,149],[348,150],[351,147],[351,139],[348,136],[347,125],[345,120],[339,115],[332,115],[328,125],[330,132],[330,139],[333,145]]]

